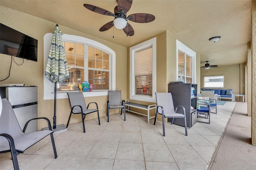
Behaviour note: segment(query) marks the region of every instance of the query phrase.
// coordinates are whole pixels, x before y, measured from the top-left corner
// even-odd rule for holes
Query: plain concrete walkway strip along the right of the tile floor
[[[256,170],[256,146],[251,144],[247,103],[237,102],[210,170]]]

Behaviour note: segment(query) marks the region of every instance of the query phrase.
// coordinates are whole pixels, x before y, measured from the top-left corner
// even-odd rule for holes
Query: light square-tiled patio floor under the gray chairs
[[[147,123],[144,116],[126,113],[70,124],[54,133],[58,158],[54,159],[50,136],[18,155],[21,170],[205,170],[225,130],[236,102],[218,105],[211,123],[188,129],[162,122]],[[13,169],[10,152],[0,154],[0,169]]]

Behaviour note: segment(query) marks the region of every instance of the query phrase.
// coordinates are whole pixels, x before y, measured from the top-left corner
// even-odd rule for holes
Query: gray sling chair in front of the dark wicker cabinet
[[[156,116],[157,116],[157,113],[162,115],[163,136],[165,136],[165,130],[164,130],[164,118],[165,117],[166,118],[172,118],[172,123],[173,123],[175,118],[184,119],[185,133],[186,133],[186,136],[188,136],[185,108],[183,106],[177,106],[175,111],[174,111],[174,106],[173,106],[173,101],[172,101],[172,94],[171,93],[156,93],[156,104],[157,104]],[[183,114],[176,113],[178,107],[183,108]],[[156,116],[155,116],[154,125],[156,125]]]

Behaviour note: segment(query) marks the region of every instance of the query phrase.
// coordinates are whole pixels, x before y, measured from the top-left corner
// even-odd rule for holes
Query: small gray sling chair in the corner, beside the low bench
[[[124,121],[125,121],[125,101],[121,98],[121,91],[108,91],[108,101],[107,101],[107,115],[109,122],[109,109],[124,109]]]

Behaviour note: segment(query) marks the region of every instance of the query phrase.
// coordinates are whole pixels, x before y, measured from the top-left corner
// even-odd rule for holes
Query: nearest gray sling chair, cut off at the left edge
[[[34,145],[49,134],[52,139],[55,159],[58,157],[49,119],[46,117],[31,119],[25,124],[24,129],[21,130],[10,102],[7,99],[2,99],[2,106],[3,110],[0,117],[0,153],[11,152],[12,162],[15,170],[19,170],[17,154],[24,153],[27,148]],[[37,121],[37,119],[46,120],[50,130],[40,130],[37,132],[25,133],[28,123],[30,123],[32,120]]]

